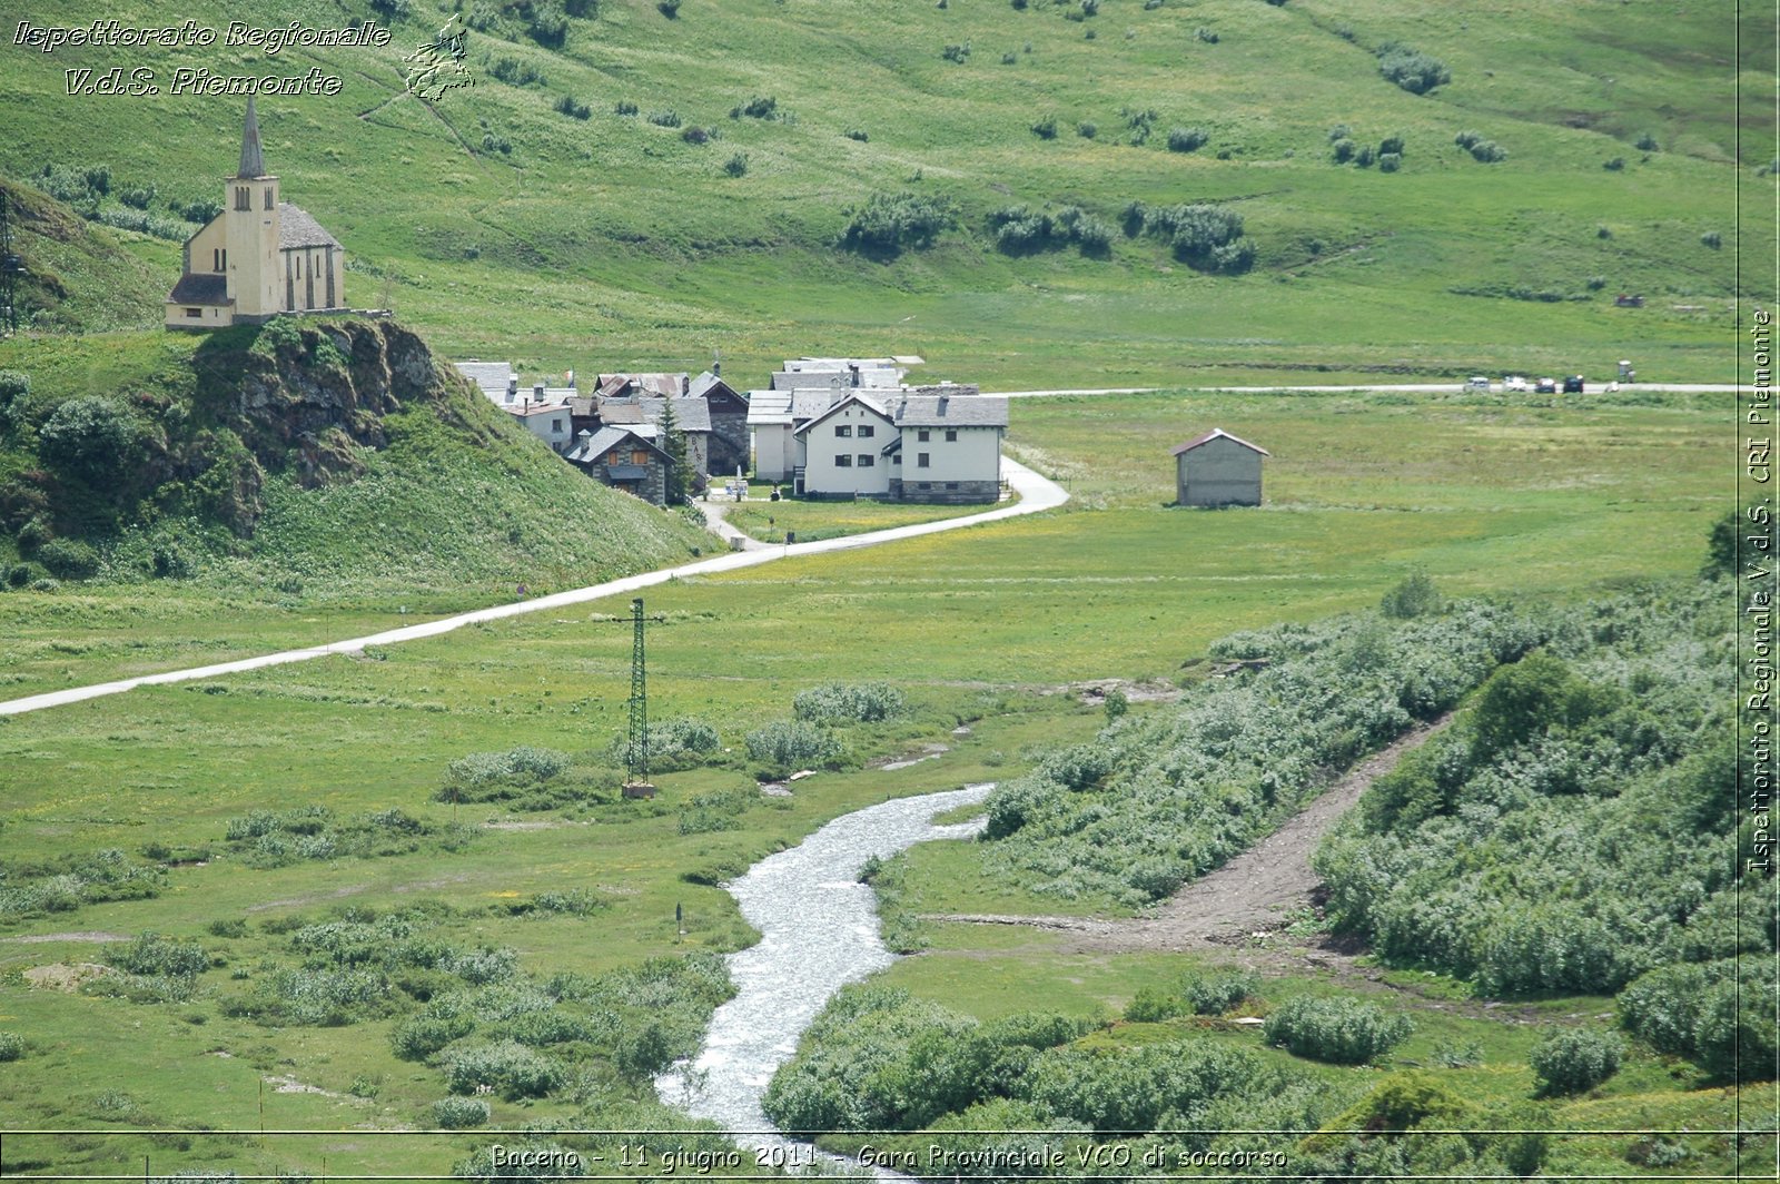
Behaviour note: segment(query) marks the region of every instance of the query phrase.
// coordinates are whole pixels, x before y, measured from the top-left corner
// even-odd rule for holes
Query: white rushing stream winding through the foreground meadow
[[[723,1123],[744,1147],[785,1147],[760,1113],[773,1070],[792,1058],[835,992],[895,960],[878,933],[876,897],[858,881],[860,869],[874,855],[975,835],[981,819],[934,826],[933,817],[983,801],[990,789],[967,785],[854,810],[728,885],[760,942],[730,954],[737,995],[712,1015],[698,1059],[655,1079],[662,1100]],[[801,1161],[808,1163],[808,1148]]]

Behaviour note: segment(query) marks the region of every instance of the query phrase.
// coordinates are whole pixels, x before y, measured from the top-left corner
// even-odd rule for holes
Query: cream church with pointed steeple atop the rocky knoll
[[[240,169],[222,183],[222,214],[185,240],[180,281],[167,296],[169,329],[221,329],[281,312],[345,310],[340,240],[278,198],[249,96]]]

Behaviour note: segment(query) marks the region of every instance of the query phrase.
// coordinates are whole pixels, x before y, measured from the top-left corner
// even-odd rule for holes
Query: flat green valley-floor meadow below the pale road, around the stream
[[[703,718],[732,750],[708,766],[660,774],[653,803],[596,798],[523,810],[500,803],[454,808],[436,799],[449,762],[514,744],[562,750],[587,776],[616,785],[611,742],[623,728],[630,664],[621,602],[477,625],[361,659],[142,689],[0,721],[0,782],[9,803],[0,858],[14,874],[101,849],[119,849],[132,862],[171,862],[153,897],[5,924],[7,938],[44,938],[0,940],[0,1015],[7,1017],[0,1029],[27,1040],[25,1056],[0,1079],[7,1125],[256,1129],[258,1079],[290,1077],[342,1097],[269,1088],[269,1129],[424,1127],[429,1104],[445,1095],[443,1081],[440,1070],[390,1054],[390,1018],[279,1027],[230,1015],[230,999],[288,958],[281,933],[290,917],[320,922],[342,910],[429,903],[447,910],[443,937],[513,947],[522,969],[538,976],[737,949],[751,935],[716,881],[846,810],[1016,776],[1047,746],[1091,737],[1102,712],[1066,694],[1072,682],[1191,682],[1210,639],[1372,605],[1412,570],[1426,570],[1449,595],[1556,600],[1695,572],[1705,529],[1725,502],[1728,422],[1728,397],[1718,395],[1020,401],[1009,447],[1077,493],[1063,509],[671,580],[646,593],[650,616],[659,618],[648,641],[651,718]],[[1168,449],[1210,426],[1273,452],[1262,509],[1166,506],[1173,488]],[[82,618],[59,618],[59,602],[87,607]],[[109,618],[135,604],[150,600],[128,586],[0,600],[11,620],[37,632],[46,646],[39,661],[61,662],[62,677],[78,682],[119,669],[126,655],[109,634]],[[135,616],[142,637],[158,636],[169,646],[153,661],[180,662],[192,650],[178,646],[206,634],[258,636],[258,611],[246,602],[219,604],[208,616],[189,605],[171,600],[164,612],[144,607]],[[178,616],[183,611],[196,616]],[[315,607],[297,611],[319,616]],[[52,634],[62,637],[61,648],[48,641]],[[91,650],[71,652],[82,645]],[[828,678],[890,680],[911,714],[849,728],[842,771],[799,782],[789,799],[758,798],[742,735],[787,716],[796,691]],[[970,732],[954,735],[959,725]],[[949,751],[894,773],[869,767],[872,758],[918,753],[929,742]],[[732,828],[701,830],[687,821],[705,810],[696,801],[724,794],[744,803]],[[457,823],[468,839],[452,849],[278,867],[255,867],[226,840],[230,824],[251,810],[292,805],[326,807],[340,819],[395,807],[429,826]],[[984,878],[970,844],[929,846],[904,862],[899,906],[908,910],[1061,912],[1048,897],[979,892]],[[514,915],[516,901],[568,887],[591,892],[598,908],[584,917]],[[678,944],[676,904],[689,929]],[[239,937],[210,933],[212,924],[231,920],[247,922]],[[21,977],[37,967],[94,960],[98,945],[87,933],[144,929],[199,940],[224,965],[199,976],[189,1002],[166,1004],[66,995]],[[1166,956],[1059,958],[1054,938],[1016,929],[926,929],[927,953],[901,961],[886,979],[979,1015],[1032,999],[1116,1013],[1139,986],[1159,985],[1184,965]],[[231,977],[237,967],[249,977]],[[1301,990],[1317,985],[1269,979],[1269,1001]],[[1436,1004],[1438,997],[1426,1006],[1438,1011]],[[1559,1001],[1550,1013],[1597,1004]],[[1422,1004],[1413,1006],[1420,1015]],[[1502,1097],[1524,1090],[1531,1031],[1472,1011],[1428,1024],[1426,1040],[1486,1049],[1485,1061],[1465,1070],[1470,1084],[1493,1083],[1477,1088]],[[1118,1040],[1141,1036],[1114,1029]],[[141,1049],[109,1091],[126,1095],[123,1102],[101,1099],[107,1091],[96,1084],[62,1084],[110,1081],[119,1042]],[[1404,1056],[1422,1058],[1417,1047]],[[178,1074],[167,1066],[180,1066]],[[1666,1074],[1655,1061],[1630,1065],[1616,1079],[1627,1091],[1616,1086],[1577,1104],[1579,1122],[1638,1106],[1664,1120],[1703,1116],[1718,1106]],[[1335,1081],[1356,1090],[1360,1079]],[[354,1095],[354,1086],[374,1097]],[[1632,1086],[1641,1091],[1630,1093]],[[1760,1088],[1744,1090],[1746,1102],[1759,1106],[1760,1097]],[[637,1086],[534,1102],[495,1099],[493,1125],[660,1123],[655,1111],[637,1109],[644,1104]],[[299,1164],[313,1172],[322,1154],[319,1143],[271,1136],[182,1139],[183,1148],[94,1134],[20,1139],[18,1147],[62,1172],[137,1170],[144,1152],[167,1166]],[[7,1143],[11,1154],[14,1139]],[[345,1163],[368,1172],[445,1170],[473,1145],[473,1134],[434,1141],[342,1134],[326,1154],[329,1170]]]

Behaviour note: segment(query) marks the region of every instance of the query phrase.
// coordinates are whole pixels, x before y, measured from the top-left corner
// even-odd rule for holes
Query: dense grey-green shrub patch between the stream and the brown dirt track
[[[1333,773],[1451,709],[1538,636],[1513,612],[1376,614],[1283,625],[1212,646],[1266,662],[1171,709],[1111,723],[988,799],[999,874],[1036,892],[1143,904],[1246,849]]]

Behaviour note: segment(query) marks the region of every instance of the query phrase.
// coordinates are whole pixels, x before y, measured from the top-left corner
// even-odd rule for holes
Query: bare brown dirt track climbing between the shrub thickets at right
[[[1312,904],[1312,894],[1321,880],[1310,869],[1310,853],[1335,819],[1360,799],[1367,785],[1394,769],[1406,751],[1424,744],[1449,721],[1451,716],[1444,716],[1431,725],[1413,728],[1396,744],[1367,757],[1285,826],[1218,871],[1184,887],[1150,917],[1096,920],[947,913],[933,919],[1018,924],[1068,933],[1064,949],[1070,953],[1157,953],[1255,944],[1257,938],[1273,935],[1285,912]],[[1323,956],[1340,958],[1330,949],[1324,949]]]

